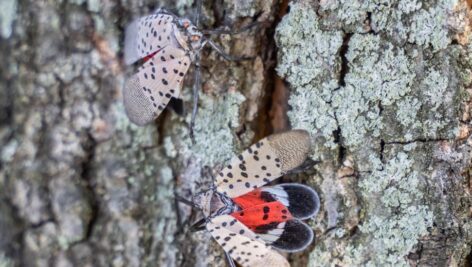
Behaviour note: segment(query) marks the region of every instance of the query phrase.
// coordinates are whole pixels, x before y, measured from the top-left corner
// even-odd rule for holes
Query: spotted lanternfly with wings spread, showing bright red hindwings
[[[318,194],[301,184],[264,186],[305,162],[306,131],[268,136],[233,158],[212,188],[194,197],[204,215],[198,225],[241,266],[289,266],[274,249],[294,252],[313,241],[302,219],[316,215]]]

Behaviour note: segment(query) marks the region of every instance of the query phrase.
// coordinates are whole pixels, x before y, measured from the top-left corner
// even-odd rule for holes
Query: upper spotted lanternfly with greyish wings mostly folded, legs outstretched
[[[198,9],[201,9],[201,2],[197,5]],[[228,60],[248,59],[226,55],[209,39],[210,35],[229,34],[230,31],[201,31],[197,26],[198,16],[194,25],[189,19],[158,9],[154,14],[139,18],[126,28],[125,63],[133,64],[138,60],[144,62],[138,72],[127,79],[123,89],[125,110],[133,123],[140,126],[150,123],[159,116],[171,98],[178,98],[185,74],[190,64],[195,62],[194,106],[190,127],[192,130],[200,86],[201,49],[209,44]]]

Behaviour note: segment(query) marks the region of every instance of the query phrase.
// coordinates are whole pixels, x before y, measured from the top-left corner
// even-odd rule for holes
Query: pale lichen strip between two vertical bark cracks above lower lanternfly
[[[312,9],[292,4],[277,27],[276,40],[280,48],[277,72],[294,89],[288,114],[292,127],[307,129],[334,147],[332,133],[337,124],[329,101],[338,88],[334,70],[340,67],[341,31],[323,32]]]

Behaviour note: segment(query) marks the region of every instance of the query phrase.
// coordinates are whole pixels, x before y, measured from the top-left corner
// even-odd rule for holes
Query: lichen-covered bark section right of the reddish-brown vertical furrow
[[[469,99],[470,65],[464,68],[462,55],[470,44],[454,44],[468,31],[467,16],[470,8],[458,1],[291,4],[277,28],[277,70],[292,88],[292,126],[312,133],[313,157],[326,162],[314,177],[326,214],[316,221],[323,238],[311,265],[422,264],[431,255],[422,258],[421,251],[434,247],[428,239],[437,229],[470,229],[467,222],[445,223],[466,216],[465,206],[451,211],[428,193],[444,183],[458,195],[468,190],[467,176],[451,181],[457,176],[445,174],[435,157],[459,153],[455,168],[470,168],[459,137],[469,127],[459,107]],[[436,172],[440,183],[432,181]],[[343,179],[356,179],[349,184],[354,191],[340,190]],[[347,199],[357,205],[343,204]],[[334,225],[324,221],[333,218]],[[467,236],[447,246],[461,250],[471,242]],[[431,260],[464,264],[467,252],[461,255]]]

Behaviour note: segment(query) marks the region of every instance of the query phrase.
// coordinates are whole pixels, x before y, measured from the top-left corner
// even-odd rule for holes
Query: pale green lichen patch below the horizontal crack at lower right
[[[367,203],[367,216],[356,237],[362,242],[353,240],[343,251],[343,257],[335,260],[319,246],[310,257],[313,266],[330,266],[333,262],[342,266],[409,266],[405,256],[414,249],[418,238],[428,234],[433,222],[429,206],[420,204],[424,176],[410,154],[413,152],[397,152],[386,163],[371,156],[374,169],[361,176],[359,183]]]

